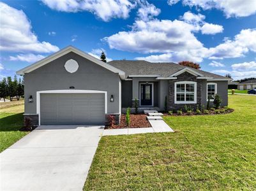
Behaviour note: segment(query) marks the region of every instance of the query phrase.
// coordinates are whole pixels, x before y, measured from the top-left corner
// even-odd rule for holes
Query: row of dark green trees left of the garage
[[[13,79],[8,76],[0,81],[0,99],[5,101],[6,97],[10,98],[10,101],[13,101],[13,97],[17,100],[24,97],[24,77],[18,80],[16,75]]]

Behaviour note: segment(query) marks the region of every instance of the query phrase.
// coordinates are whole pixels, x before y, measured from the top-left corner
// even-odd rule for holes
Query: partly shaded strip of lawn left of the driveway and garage
[[[0,109],[0,152],[13,145],[28,132],[19,131],[23,124],[24,104],[15,101],[1,103]]]

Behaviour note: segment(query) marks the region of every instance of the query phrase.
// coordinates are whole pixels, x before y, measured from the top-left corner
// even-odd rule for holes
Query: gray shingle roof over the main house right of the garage
[[[171,74],[183,69],[186,66],[181,66],[172,62],[147,62],[144,60],[112,60],[108,64],[117,67],[124,71],[126,77],[129,75],[159,75],[162,77],[168,77]],[[193,69],[190,67],[190,69]],[[220,76],[213,73],[208,73],[200,69],[193,69],[206,77],[218,78],[223,80],[231,80],[224,76]]]

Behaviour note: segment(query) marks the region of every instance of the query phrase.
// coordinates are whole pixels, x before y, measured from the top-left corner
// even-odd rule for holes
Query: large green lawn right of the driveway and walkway
[[[175,133],[100,140],[84,190],[256,190],[256,97],[226,115],[165,117]]]

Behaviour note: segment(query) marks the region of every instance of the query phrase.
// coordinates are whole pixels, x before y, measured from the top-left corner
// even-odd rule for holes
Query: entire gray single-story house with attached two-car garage
[[[227,106],[225,78],[174,63],[102,62],[73,46],[17,71],[24,75],[25,117],[35,125],[116,122],[123,108],[178,110],[207,104],[219,94]],[[213,99],[211,99],[213,101]]]

